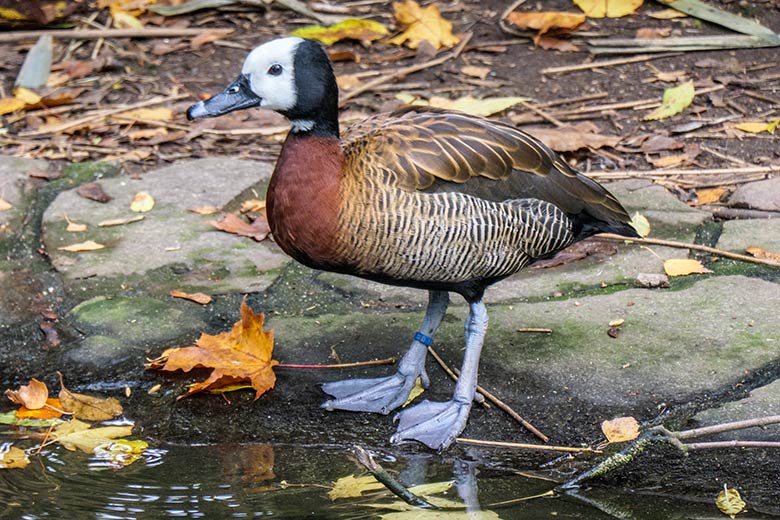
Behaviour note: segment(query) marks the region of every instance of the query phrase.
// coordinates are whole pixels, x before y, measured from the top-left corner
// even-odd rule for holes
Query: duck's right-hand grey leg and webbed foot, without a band
[[[471,303],[466,318],[466,352],[452,400],[444,403],[425,400],[400,412],[396,416],[398,431],[391,437],[391,442],[418,441],[429,448],[443,450],[463,431],[477,389],[479,355],[487,322],[487,310],[482,300]]]

